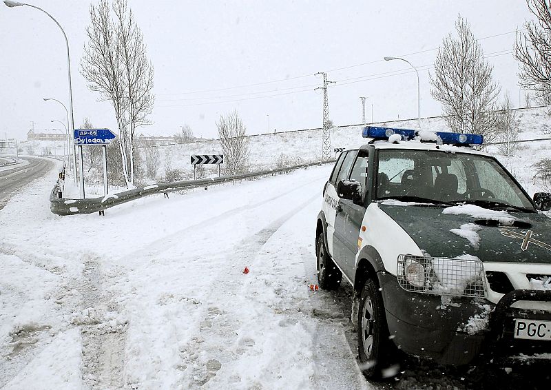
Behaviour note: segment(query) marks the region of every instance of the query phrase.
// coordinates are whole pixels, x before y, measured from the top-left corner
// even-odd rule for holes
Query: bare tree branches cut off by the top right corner
[[[537,21],[526,21],[525,32],[517,32],[514,57],[520,62],[520,85],[532,90],[534,97],[551,101],[551,9],[549,0],[527,0]]]

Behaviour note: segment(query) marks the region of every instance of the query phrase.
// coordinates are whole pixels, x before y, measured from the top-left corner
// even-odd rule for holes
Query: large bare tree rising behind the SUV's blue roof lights
[[[435,74],[430,75],[430,93],[442,103],[453,131],[482,134],[491,141],[501,88],[492,80],[492,67],[484,60],[481,46],[461,15],[455,30],[457,37],[448,34],[438,50]]]

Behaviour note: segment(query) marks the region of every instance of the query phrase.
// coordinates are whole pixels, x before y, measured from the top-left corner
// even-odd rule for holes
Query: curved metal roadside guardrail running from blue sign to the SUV
[[[292,170],[298,170],[300,168],[311,167],[313,165],[322,165],[323,163],[334,162],[335,160],[323,162],[316,161],[314,163],[294,165],[292,167],[276,168],[273,170],[251,172],[248,174],[235,176],[222,176],[219,178],[204,178],[200,180],[190,181],[176,181],[174,183],[158,183],[136,189],[129,189],[127,191],[118,192],[117,194],[109,194],[100,198],[85,199],[63,198],[63,181],[65,179],[65,165],[63,165],[63,170],[59,172],[59,179],[57,180],[56,185],[54,185],[54,188],[52,189],[52,192],[50,194],[50,210],[52,211],[52,213],[60,216],[72,214],[92,214],[95,212],[103,214],[105,209],[116,205],[121,205],[126,202],[134,201],[145,196],[164,194],[164,196],[168,198],[168,194],[170,192],[179,191],[180,189],[192,189],[199,187],[205,187],[205,189],[207,189],[211,185],[229,183],[247,178],[256,178],[258,176],[267,176],[289,172]]]

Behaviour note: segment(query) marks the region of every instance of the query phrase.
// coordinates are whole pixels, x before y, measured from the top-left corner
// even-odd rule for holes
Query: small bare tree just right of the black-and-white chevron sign
[[[249,161],[249,138],[245,134],[247,127],[241,121],[237,110],[229,112],[226,116],[220,115],[216,127],[226,171],[232,175],[245,172]]]

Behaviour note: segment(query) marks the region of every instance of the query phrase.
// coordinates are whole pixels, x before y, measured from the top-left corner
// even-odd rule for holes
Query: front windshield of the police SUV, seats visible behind
[[[377,199],[475,203],[534,211],[493,158],[435,150],[380,150]]]

